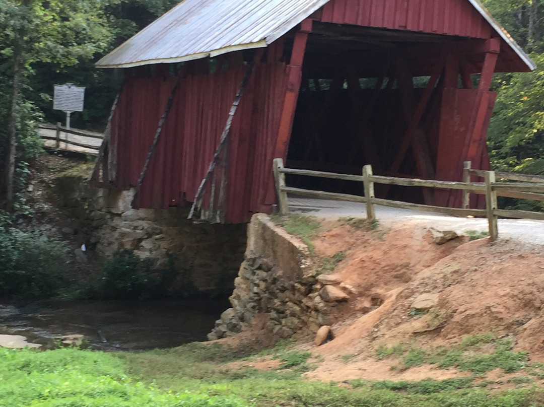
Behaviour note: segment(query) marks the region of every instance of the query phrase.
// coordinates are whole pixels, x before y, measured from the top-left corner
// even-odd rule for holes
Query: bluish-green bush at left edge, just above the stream
[[[54,295],[66,272],[65,244],[52,231],[0,229],[0,296]]]

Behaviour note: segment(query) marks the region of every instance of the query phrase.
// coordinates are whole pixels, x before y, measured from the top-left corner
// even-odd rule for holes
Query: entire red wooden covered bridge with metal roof
[[[276,157],[437,180],[489,168],[492,75],[535,68],[478,0],[184,0],[97,66],[125,81],[94,181],[225,223],[270,211]],[[406,193],[376,191],[458,205]]]

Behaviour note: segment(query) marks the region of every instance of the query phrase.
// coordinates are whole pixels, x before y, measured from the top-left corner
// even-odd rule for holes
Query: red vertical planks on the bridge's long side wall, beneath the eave
[[[244,66],[181,79],[168,118],[138,194],[137,207],[167,208],[193,201],[225,127],[244,76]],[[128,75],[127,75],[128,76]],[[228,144],[227,223],[248,221],[265,208],[280,108],[286,91],[286,65],[258,64],[242,97]],[[112,119],[118,144],[115,187],[138,182],[145,159],[174,87],[174,77],[129,77]],[[220,181],[220,174],[218,175]],[[219,189],[215,192],[217,205]],[[210,195],[205,201],[209,203]]]

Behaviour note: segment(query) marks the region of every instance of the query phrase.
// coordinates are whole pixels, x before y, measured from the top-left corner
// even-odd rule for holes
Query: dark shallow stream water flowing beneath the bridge
[[[171,348],[205,341],[228,301],[51,301],[0,304],[0,334],[26,336],[46,348],[55,337],[83,334],[92,349]]]

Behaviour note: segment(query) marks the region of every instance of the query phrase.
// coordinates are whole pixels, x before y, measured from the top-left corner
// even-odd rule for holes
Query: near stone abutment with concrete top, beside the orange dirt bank
[[[245,259],[234,280],[232,308],[208,334],[215,340],[248,329],[256,317],[276,337],[317,332],[331,323],[333,307],[349,299],[351,287],[317,275],[310,251],[300,239],[255,214],[248,226]]]

